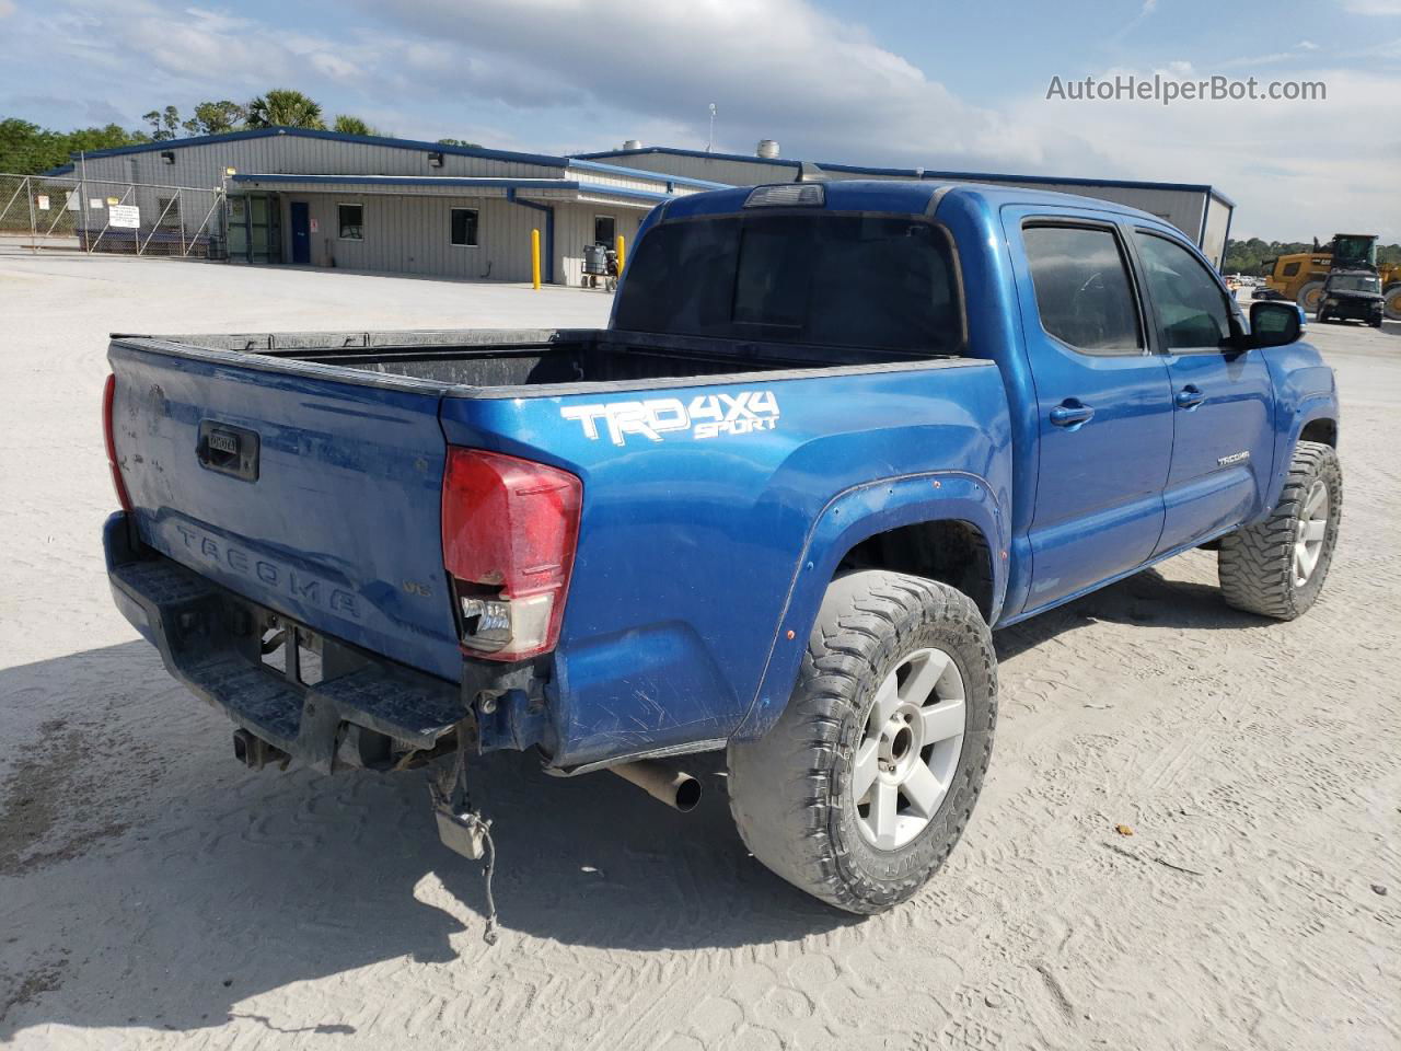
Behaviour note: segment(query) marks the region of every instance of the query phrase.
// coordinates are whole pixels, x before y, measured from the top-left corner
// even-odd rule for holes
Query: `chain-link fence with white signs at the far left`
[[[221,188],[0,174],[0,251],[227,258]]]

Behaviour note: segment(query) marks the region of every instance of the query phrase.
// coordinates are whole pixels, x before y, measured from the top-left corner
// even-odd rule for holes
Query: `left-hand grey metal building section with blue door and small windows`
[[[57,174],[57,172],[53,172]],[[127,182],[143,224],[179,226],[170,191],[223,188],[230,259],[579,284],[586,244],[630,242],[656,203],[717,184],[587,158],[294,128],[88,153],[73,175]],[[94,202],[101,203],[101,202]]]

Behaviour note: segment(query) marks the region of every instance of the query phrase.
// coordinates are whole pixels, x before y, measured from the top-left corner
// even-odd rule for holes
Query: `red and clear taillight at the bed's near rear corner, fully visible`
[[[467,653],[524,660],[555,647],[579,540],[583,482],[528,460],[447,451],[443,565]]]

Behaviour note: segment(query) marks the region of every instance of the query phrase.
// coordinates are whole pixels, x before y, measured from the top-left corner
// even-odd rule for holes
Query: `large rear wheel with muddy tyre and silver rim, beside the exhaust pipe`
[[[834,580],[779,722],[730,744],[741,838],[838,908],[905,901],[972,814],[996,706],[992,633],[967,596],[884,570]]]

